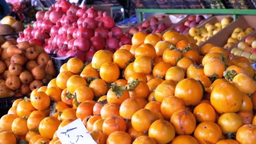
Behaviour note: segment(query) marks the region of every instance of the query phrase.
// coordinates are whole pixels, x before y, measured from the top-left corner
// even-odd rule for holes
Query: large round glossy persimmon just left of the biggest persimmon
[[[182,99],[185,106],[197,105],[203,97],[203,88],[197,80],[186,78],[176,85],[174,96]]]

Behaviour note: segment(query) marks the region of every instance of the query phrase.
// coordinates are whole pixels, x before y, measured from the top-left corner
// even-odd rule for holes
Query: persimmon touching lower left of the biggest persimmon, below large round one
[[[210,121],[210,122],[216,121],[216,112],[214,108],[211,106],[211,103],[198,104],[194,108],[193,114],[195,115],[196,120],[200,123],[204,121]]]

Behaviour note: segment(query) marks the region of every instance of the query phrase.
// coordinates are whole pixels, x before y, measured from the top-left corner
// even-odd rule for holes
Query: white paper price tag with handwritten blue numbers
[[[62,144],[96,144],[80,118],[60,128],[57,136]]]

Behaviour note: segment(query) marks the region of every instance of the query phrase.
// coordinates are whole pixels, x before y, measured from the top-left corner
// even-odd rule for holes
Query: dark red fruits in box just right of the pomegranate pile
[[[163,22],[159,23],[159,21],[163,20],[165,17],[165,15],[152,16],[152,18],[143,21],[139,26],[132,27],[128,33],[134,35],[136,32],[143,32],[149,27],[152,27],[152,31],[147,31],[148,33],[161,33],[171,26],[171,24],[165,24]]]

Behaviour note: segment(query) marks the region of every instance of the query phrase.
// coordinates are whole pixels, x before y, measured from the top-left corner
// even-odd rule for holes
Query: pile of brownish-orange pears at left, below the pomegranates
[[[0,45],[0,98],[27,96],[56,76],[53,61],[34,43],[10,39]]]

